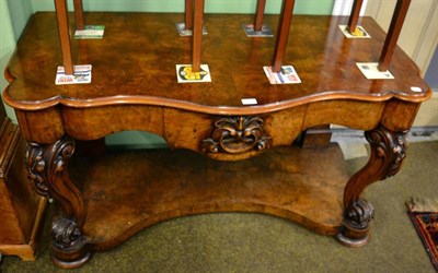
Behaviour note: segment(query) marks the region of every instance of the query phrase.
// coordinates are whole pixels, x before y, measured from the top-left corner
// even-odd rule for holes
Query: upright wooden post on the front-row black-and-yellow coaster
[[[195,12],[193,14],[193,62],[192,72],[200,71],[200,45],[203,39],[204,0],[195,0]]]

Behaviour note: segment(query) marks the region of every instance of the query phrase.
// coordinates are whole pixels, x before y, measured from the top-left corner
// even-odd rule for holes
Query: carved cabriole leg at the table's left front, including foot
[[[27,144],[26,169],[35,190],[61,204],[61,215],[51,225],[51,260],[60,268],[77,268],[90,259],[82,233],[85,211],[81,192],[71,182],[67,166],[74,141],[65,136],[48,145]]]

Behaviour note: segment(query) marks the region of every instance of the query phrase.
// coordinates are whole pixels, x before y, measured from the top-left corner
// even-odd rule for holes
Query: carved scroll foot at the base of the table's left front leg
[[[51,225],[51,261],[62,269],[74,269],[91,258],[87,239],[74,221],[57,217]]]

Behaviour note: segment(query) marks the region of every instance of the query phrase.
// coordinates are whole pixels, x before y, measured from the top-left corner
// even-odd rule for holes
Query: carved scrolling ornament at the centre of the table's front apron
[[[270,146],[260,117],[224,117],[215,121],[211,136],[203,140],[206,153],[241,154]]]

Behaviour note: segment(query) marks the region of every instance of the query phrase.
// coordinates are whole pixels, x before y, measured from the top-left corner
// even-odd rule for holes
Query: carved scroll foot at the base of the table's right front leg
[[[344,228],[336,235],[337,240],[348,247],[361,247],[368,242],[369,223],[374,216],[374,207],[358,199],[344,214]]]

